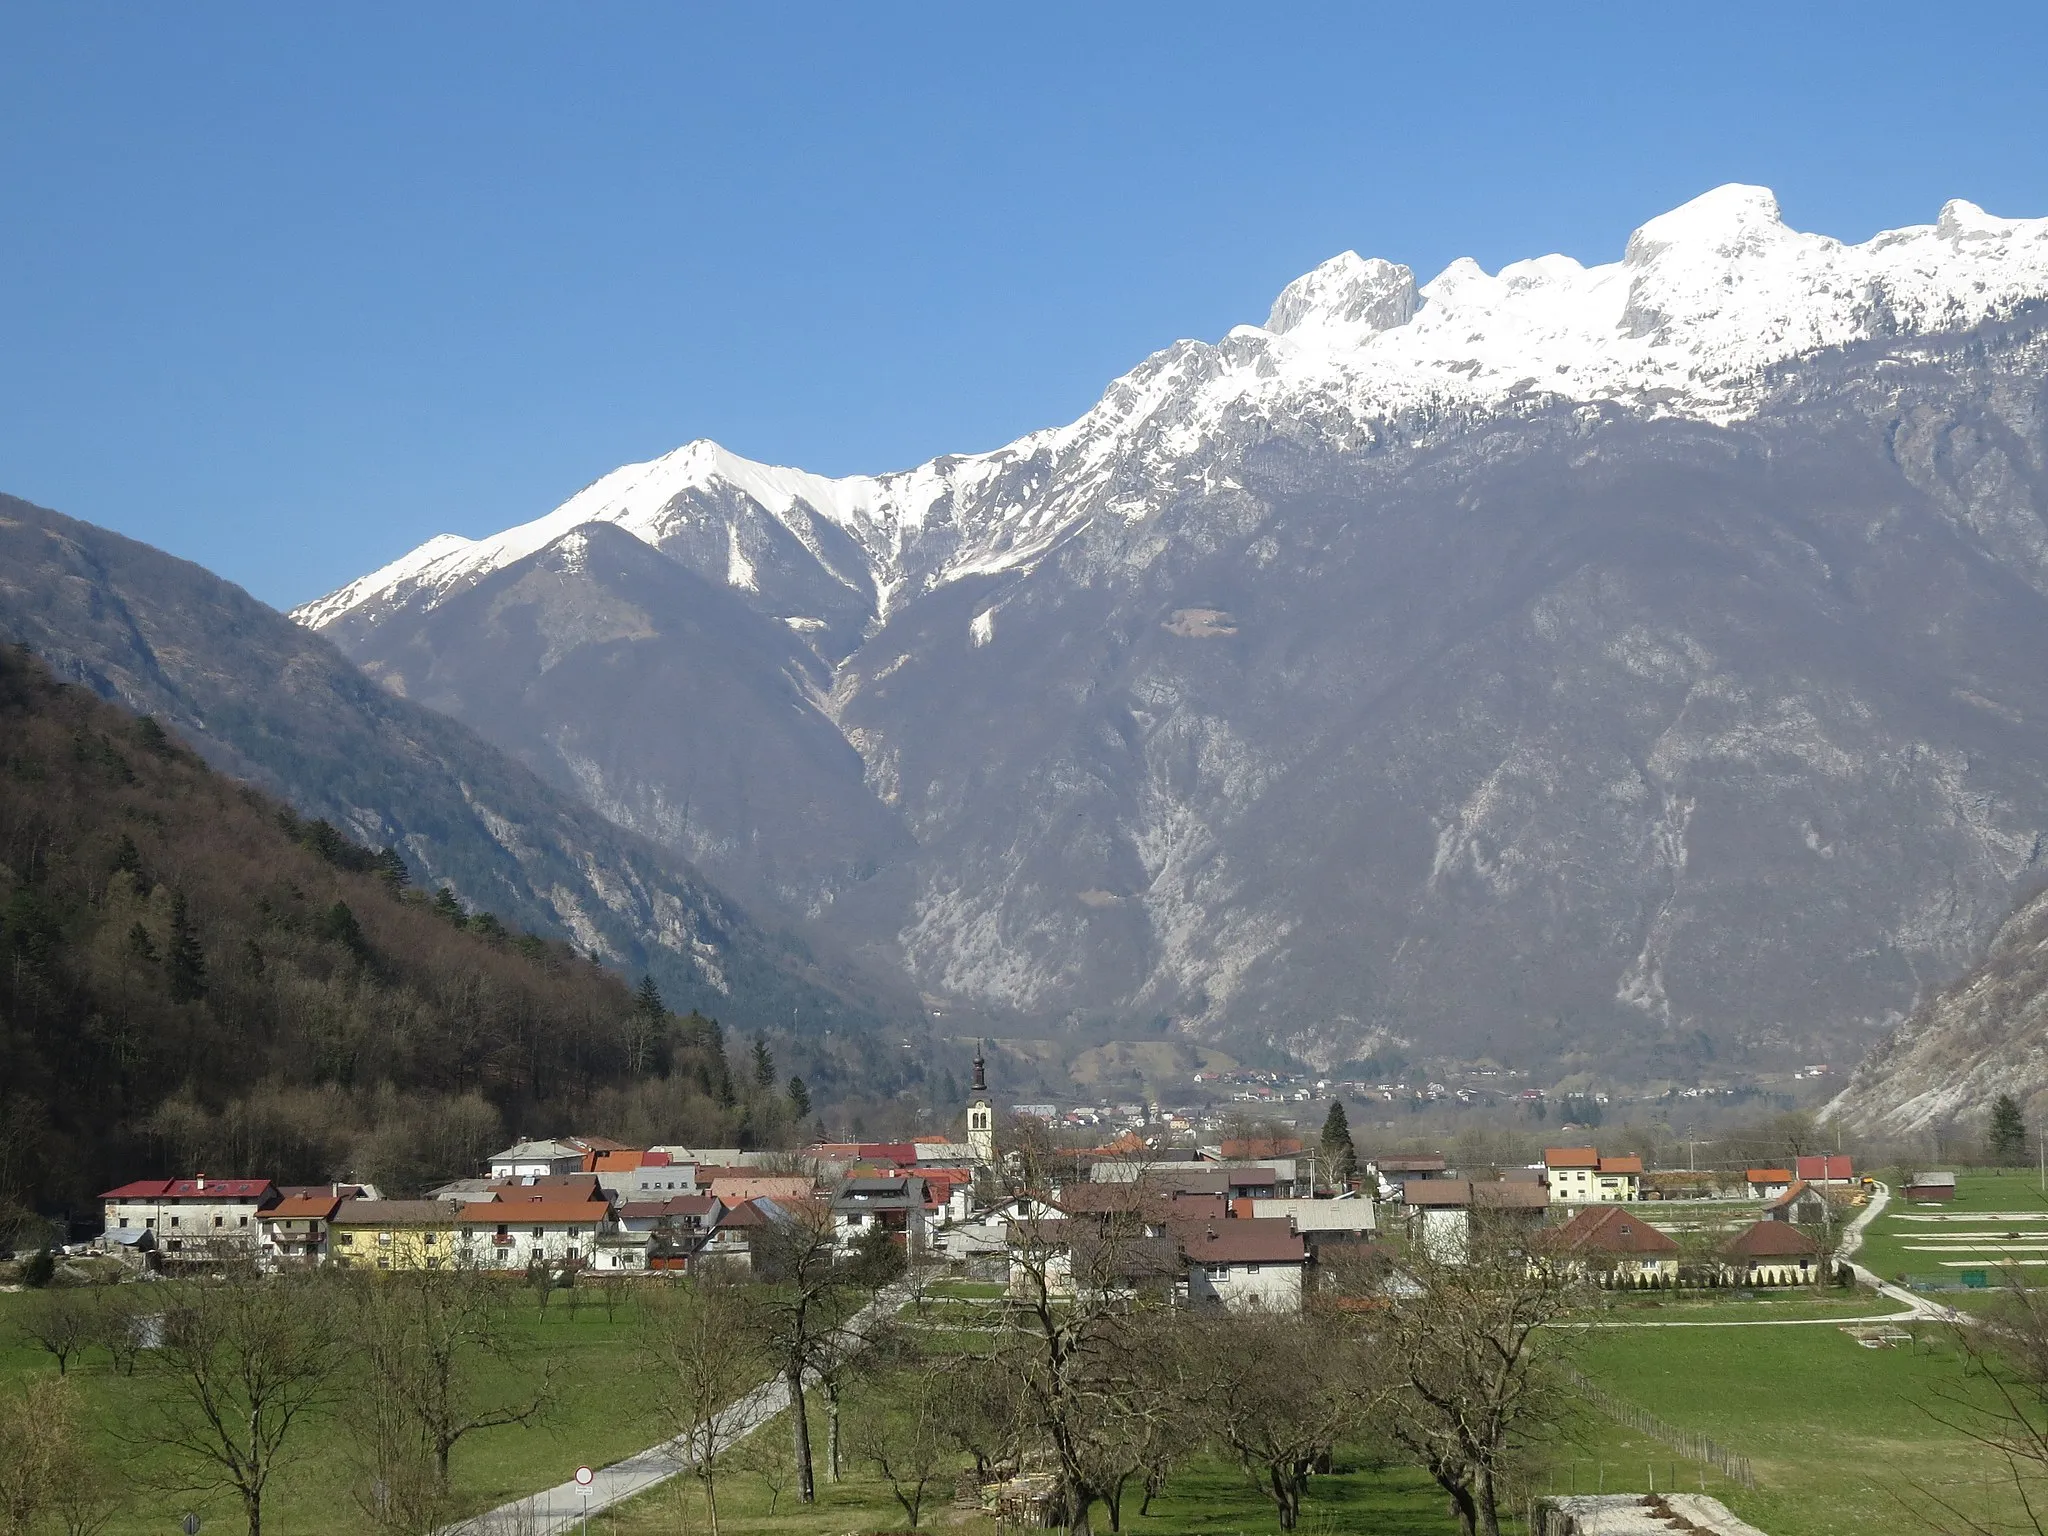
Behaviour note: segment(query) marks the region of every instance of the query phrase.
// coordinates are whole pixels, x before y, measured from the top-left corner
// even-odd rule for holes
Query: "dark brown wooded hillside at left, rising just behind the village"
[[[786,1114],[711,1020],[406,889],[0,647],[0,1225],[172,1169],[393,1192],[506,1135],[766,1141]]]

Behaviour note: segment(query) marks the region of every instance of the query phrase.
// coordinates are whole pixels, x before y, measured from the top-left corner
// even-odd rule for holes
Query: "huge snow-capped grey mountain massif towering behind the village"
[[[1739,186],[1608,266],[1346,254],[993,453],[694,442],[297,616],[938,997],[1847,1055],[2040,860],[2042,297],[2048,221]]]

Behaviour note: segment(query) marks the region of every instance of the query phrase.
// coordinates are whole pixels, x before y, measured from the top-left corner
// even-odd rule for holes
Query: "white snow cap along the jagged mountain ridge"
[[[1786,227],[1767,188],[1733,184],[1651,219],[1602,266],[1540,256],[1487,274],[1460,258],[1415,287],[1405,266],[1343,252],[1290,283],[1266,326],[1178,342],[1079,420],[991,453],[829,479],[696,440],[489,539],[440,535],[293,616],[322,629],[348,614],[375,621],[414,596],[432,606],[584,522],[659,547],[680,524],[676,508],[723,492],[752,500],[852,586],[813,518],[842,528],[887,612],[905,590],[1024,565],[1096,512],[1145,516],[1180,487],[1210,483],[1221,444],[1266,430],[1309,424],[1366,446],[1397,418],[1487,414],[1530,395],[1735,420],[1776,362],[1952,330],[2038,297],[2048,297],[2048,219],[1995,219],[1954,201],[1933,225],[1845,246]],[[1225,432],[1233,418],[1239,430]],[[748,586],[754,565],[737,543],[731,551],[727,580]]]

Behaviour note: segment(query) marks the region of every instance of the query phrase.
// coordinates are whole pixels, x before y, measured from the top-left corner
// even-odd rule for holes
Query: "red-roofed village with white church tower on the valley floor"
[[[1524,1167],[1460,1169],[1444,1155],[1360,1157],[1348,1141],[1298,1135],[1163,1145],[1124,1130],[1026,1159],[997,1147],[979,1057],[965,1126],[967,1141],[795,1151],[561,1135],[518,1141],[422,1198],[248,1174],[135,1180],[100,1196],[104,1231],[68,1251],[119,1257],[135,1274],[463,1268],[573,1286],[707,1266],[750,1274],[764,1233],[809,1223],[829,1229],[842,1253],[887,1239],[907,1262],[1008,1280],[1020,1241],[1069,1245],[1067,1233],[1114,1219],[1153,1245],[1174,1243],[1163,1270],[1149,1262],[1169,1272],[1176,1300],[1294,1313],[1331,1255],[1397,1266],[1413,1245],[1456,1262],[1475,1219],[1520,1233],[1532,1262],[1602,1286],[1812,1286],[1835,1278],[1833,1235],[1870,1188],[1845,1155],[1720,1174],[1546,1147]],[[1954,1174],[1921,1186],[1915,1196],[1939,1198]],[[1716,1212],[1710,1243],[1667,1231],[1696,1235],[1694,1217],[1642,1214],[1679,1210],[1673,1202]]]

